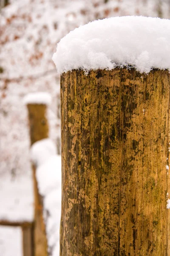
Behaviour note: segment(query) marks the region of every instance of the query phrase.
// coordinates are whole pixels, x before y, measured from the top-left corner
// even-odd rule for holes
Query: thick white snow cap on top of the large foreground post
[[[170,70],[170,20],[126,16],[95,20],[74,29],[57,44],[58,72],[115,67]]]

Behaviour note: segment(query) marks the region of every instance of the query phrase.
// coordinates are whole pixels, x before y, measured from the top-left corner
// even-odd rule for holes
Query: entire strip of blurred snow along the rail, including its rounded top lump
[[[30,150],[31,160],[37,166],[38,190],[43,198],[48,250],[59,256],[59,227],[61,217],[61,155],[50,139],[34,143]]]

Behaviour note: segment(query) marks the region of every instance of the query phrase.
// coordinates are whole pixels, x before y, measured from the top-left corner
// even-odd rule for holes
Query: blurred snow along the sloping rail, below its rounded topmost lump
[[[61,217],[61,156],[50,157],[36,172],[39,192],[43,197],[48,250],[59,256],[59,227]]]

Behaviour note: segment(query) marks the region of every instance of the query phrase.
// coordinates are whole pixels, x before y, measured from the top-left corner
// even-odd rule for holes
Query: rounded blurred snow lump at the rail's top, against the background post
[[[30,157],[35,166],[40,166],[56,154],[56,146],[50,139],[39,140],[31,146]]]

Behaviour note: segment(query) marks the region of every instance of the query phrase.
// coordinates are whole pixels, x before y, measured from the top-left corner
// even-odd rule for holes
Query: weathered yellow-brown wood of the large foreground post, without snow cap
[[[170,255],[170,74],[61,77],[61,256]]]

